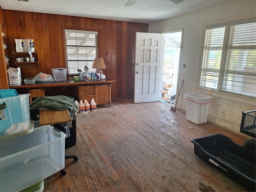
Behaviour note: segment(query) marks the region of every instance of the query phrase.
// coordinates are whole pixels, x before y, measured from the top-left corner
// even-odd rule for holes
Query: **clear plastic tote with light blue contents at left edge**
[[[0,137],[29,129],[29,96],[21,94],[0,99]]]

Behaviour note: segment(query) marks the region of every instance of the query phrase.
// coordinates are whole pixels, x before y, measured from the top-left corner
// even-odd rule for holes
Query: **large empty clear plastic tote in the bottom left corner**
[[[0,191],[21,191],[65,167],[66,134],[45,125],[0,139]]]

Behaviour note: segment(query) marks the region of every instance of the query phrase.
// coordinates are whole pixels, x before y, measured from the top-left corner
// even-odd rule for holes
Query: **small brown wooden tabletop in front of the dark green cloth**
[[[43,125],[51,125],[51,124],[59,124],[59,123],[67,123],[70,122],[71,118],[68,114],[68,110],[40,110],[39,124]]]

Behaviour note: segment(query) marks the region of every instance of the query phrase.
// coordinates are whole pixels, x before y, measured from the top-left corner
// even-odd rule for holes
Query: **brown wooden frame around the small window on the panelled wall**
[[[95,29],[88,29],[88,28],[74,28],[74,27],[62,27],[62,36],[63,36],[63,51],[64,51],[64,62],[65,62],[65,68],[67,69],[67,75],[78,75],[79,73],[69,73],[68,70],[68,55],[67,55],[67,46],[66,46],[66,32],[65,30],[78,30],[78,31],[88,31],[88,32],[97,32],[98,38],[97,38],[97,48],[96,48],[96,57],[99,57],[99,30]],[[92,61],[93,62],[93,61]],[[81,68],[82,71],[84,71],[84,67]]]

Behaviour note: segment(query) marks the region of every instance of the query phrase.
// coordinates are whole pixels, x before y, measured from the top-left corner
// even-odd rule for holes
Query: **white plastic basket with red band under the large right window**
[[[213,97],[200,93],[187,93],[184,100],[186,100],[186,119],[194,124],[207,123],[208,110]]]

